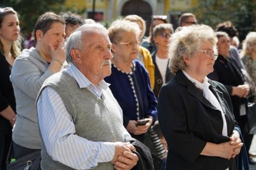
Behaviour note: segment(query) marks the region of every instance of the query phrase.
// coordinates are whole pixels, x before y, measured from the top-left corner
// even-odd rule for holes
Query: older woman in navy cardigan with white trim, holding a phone
[[[150,88],[148,72],[136,60],[139,27],[130,21],[117,20],[108,31],[114,55],[112,74],[105,81],[111,84],[109,88],[123,110],[124,126],[140,140],[156,120],[157,102]],[[136,126],[137,120],[144,118],[149,122]]]

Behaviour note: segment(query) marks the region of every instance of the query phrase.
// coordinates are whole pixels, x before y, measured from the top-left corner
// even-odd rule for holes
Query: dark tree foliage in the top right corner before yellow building
[[[200,23],[215,28],[218,23],[231,21],[239,32],[239,38],[245,39],[253,31],[256,4],[254,0],[200,0],[193,9]]]

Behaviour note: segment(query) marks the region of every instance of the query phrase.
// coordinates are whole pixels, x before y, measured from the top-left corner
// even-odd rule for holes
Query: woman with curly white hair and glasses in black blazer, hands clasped
[[[167,141],[166,169],[235,169],[243,143],[223,84],[213,71],[217,38],[212,28],[179,28],[170,39],[175,76],[160,90],[158,116]]]

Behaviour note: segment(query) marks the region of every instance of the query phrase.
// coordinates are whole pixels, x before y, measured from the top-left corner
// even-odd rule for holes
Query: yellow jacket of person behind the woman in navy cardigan
[[[147,48],[144,48],[142,46],[139,46],[139,52],[142,54],[144,58],[144,66],[148,70],[149,81],[151,89],[153,90],[155,86],[155,66],[153,64],[151,54]]]

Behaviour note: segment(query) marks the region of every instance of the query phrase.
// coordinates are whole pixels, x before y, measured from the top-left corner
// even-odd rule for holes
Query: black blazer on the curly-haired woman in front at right
[[[228,136],[232,134],[235,118],[226,88],[216,81],[208,81],[225,114]],[[222,135],[222,114],[188,80],[180,70],[166,83],[159,94],[158,117],[168,145],[166,169],[224,170],[234,159],[200,155],[206,142],[230,141]],[[232,162],[234,163],[234,162]]]

